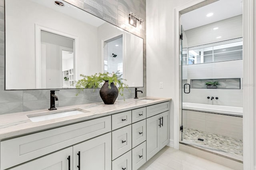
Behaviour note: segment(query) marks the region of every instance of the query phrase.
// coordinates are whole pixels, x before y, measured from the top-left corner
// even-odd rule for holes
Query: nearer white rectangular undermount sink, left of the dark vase
[[[79,115],[79,114],[88,113],[88,112],[89,111],[81,110],[81,109],[69,109],[64,111],[56,110],[56,111],[46,111],[42,113],[31,114],[31,115],[27,115],[27,117],[32,122],[41,122],[41,121],[47,121],[47,120],[57,119],[61,117]]]

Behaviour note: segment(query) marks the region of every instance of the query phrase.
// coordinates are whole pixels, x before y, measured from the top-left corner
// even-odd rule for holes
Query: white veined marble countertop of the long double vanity
[[[149,101],[143,101],[143,99],[154,99]],[[65,125],[74,124],[77,122],[82,122],[90,119],[95,119],[98,117],[103,117],[107,115],[112,115],[114,113],[120,113],[123,111],[128,111],[132,109],[137,109],[140,107],[146,107],[149,105],[154,105],[157,103],[162,103],[170,101],[170,98],[159,98],[159,97],[143,97],[140,99],[126,99],[125,101],[116,101],[113,105],[105,105],[103,102],[100,103],[90,103],[84,105],[74,105],[68,107],[59,107],[55,111],[49,111],[48,109],[19,112],[19,113],[9,113],[0,115],[0,140],[6,138],[12,138],[15,136],[20,136],[24,134],[30,134],[34,132],[39,132],[42,130],[47,130],[51,128],[61,127]],[[51,114],[56,111],[67,111],[81,109],[88,111],[87,113],[82,113],[79,115],[72,115],[68,117],[62,117],[57,119],[51,119],[40,122],[32,122],[29,117]]]

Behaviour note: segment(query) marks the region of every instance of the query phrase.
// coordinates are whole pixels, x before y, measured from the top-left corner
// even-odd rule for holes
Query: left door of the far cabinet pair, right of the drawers
[[[147,161],[159,151],[159,115],[146,119],[147,122]]]

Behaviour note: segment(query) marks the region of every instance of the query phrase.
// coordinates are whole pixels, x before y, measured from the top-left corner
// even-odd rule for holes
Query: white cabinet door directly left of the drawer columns
[[[111,170],[111,133],[74,145],[73,159],[73,170]]]

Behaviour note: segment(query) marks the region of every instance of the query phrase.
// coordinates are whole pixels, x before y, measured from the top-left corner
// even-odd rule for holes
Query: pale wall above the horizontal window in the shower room
[[[218,27],[217,30],[212,28]],[[240,38],[243,35],[242,15],[185,31],[188,47]],[[221,36],[221,38],[216,38]]]

